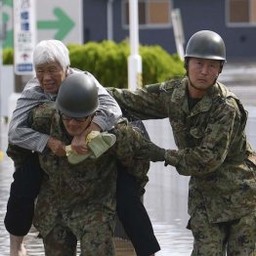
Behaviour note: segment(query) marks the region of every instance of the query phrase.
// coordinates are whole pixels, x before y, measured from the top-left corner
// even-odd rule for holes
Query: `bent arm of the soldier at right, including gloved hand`
[[[230,100],[233,101],[233,100]],[[179,174],[201,176],[214,172],[231,154],[243,155],[244,145],[242,114],[232,104],[219,105],[209,113],[210,118],[205,131],[196,134],[200,144],[186,149],[161,149],[149,140],[143,140],[137,156],[151,161],[165,161],[165,165],[175,166]],[[231,151],[237,142],[237,152]],[[236,144],[235,144],[236,145]]]

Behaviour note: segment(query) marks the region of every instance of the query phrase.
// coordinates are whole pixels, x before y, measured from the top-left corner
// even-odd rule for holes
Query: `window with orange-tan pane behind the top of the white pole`
[[[129,0],[123,0],[123,21],[129,25]],[[171,0],[139,0],[140,28],[171,26]]]

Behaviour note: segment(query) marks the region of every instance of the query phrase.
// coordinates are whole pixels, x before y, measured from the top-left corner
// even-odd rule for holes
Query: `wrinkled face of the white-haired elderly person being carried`
[[[35,74],[45,93],[57,94],[66,76],[66,70],[58,62],[37,64]]]

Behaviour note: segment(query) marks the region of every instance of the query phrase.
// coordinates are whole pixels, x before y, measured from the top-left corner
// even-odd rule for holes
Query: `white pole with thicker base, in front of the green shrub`
[[[138,0],[129,0],[130,49],[128,57],[128,87],[135,90],[142,86],[142,58],[139,55]]]

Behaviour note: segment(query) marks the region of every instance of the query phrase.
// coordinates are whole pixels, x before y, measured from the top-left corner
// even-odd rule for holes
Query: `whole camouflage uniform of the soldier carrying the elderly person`
[[[72,138],[53,107],[43,105],[32,110],[29,122],[32,129],[70,144]],[[66,157],[50,150],[39,154],[46,175],[33,223],[43,236],[46,255],[75,255],[77,239],[81,255],[114,255],[116,161],[136,173],[140,181],[149,161],[134,159],[133,150],[139,148],[142,136],[130,125],[119,123],[111,132],[116,136],[115,145],[97,159],[71,165]],[[9,155],[17,154],[9,149]]]

